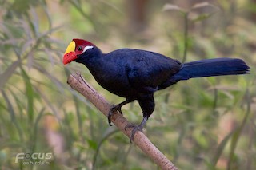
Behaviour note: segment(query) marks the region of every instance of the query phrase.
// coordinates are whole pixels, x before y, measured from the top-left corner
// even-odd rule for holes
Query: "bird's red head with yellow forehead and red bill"
[[[73,39],[70,45],[67,46],[66,52],[63,56],[63,64],[66,65],[71,61],[76,61],[82,54],[86,53],[90,49],[94,49],[96,46],[82,39]]]

